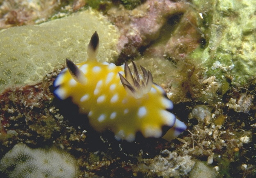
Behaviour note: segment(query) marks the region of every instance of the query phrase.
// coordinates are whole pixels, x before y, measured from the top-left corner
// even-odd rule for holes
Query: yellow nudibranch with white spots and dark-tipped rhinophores
[[[95,32],[87,47],[87,62],[66,66],[53,82],[53,93],[60,100],[71,97],[79,112],[87,114],[89,124],[98,132],[107,129],[117,140],[134,141],[137,132],[144,137],[162,137],[164,126],[171,137],[186,129],[183,122],[169,112],[173,103],[165,91],[153,83],[152,74],[141,66],[142,75],[132,62],[116,66],[97,62],[99,38]],[[133,70],[131,70],[133,69]],[[133,72],[132,72],[133,71]]]

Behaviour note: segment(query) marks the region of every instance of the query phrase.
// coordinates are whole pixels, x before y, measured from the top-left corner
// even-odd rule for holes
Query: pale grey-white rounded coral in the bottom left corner
[[[74,178],[78,176],[78,166],[64,151],[16,144],[0,161],[0,173],[9,178]]]

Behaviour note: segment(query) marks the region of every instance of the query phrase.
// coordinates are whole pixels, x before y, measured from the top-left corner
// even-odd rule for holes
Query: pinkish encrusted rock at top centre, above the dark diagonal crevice
[[[188,4],[169,0],[147,0],[129,11],[112,8],[108,11],[110,20],[121,31],[119,51],[121,56],[133,57],[142,46],[158,39],[160,30],[174,15],[184,14]]]

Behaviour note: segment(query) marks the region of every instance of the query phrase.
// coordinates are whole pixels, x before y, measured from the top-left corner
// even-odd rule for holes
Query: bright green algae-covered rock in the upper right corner
[[[245,84],[256,73],[256,1],[194,0],[208,44],[192,57],[208,66],[208,74]]]

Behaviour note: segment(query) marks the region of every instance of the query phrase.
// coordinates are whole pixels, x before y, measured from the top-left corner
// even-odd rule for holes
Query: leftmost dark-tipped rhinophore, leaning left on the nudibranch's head
[[[79,83],[85,83],[84,73],[71,60],[66,59],[66,65],[73,79]]]

